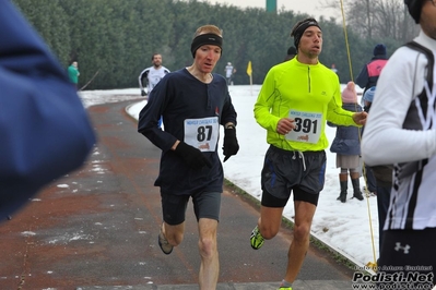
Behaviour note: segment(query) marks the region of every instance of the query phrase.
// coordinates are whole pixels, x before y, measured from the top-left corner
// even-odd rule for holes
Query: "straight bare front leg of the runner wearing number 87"
[[[209,218],[199,220],[199,252],[201,256],[199,285],[200,290],[216,289],[220,261],[216,243],[217,221]]]

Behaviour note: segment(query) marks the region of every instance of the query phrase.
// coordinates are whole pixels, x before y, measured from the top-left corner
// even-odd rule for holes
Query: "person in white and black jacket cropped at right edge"
[[[400,273],[392,283],[408,273],[419,273],[422,282],[431,285],[436,270],[436,71],[432,65],[436,0],[404,3],[422,28],[414,43],[427,52],[406,45],[389,59],[377,83],[362,154],[370,166],[393,164],[394,168],[378,269],[390,277]]]

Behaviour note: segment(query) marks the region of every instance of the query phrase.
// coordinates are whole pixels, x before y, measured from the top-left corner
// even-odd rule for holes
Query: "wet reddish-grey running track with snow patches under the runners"
[[[198,289],[197,222],[188,207],[180,246],[157,245],[161,150],[137,133],[125,108],[89,108],[98,143],[80,170],[56,180],[0,223],[0,289]],[[219,226],[217,289],[276,289],[292,230],[255,251],[259,204],[227,188]],[[294,289],[351,289],[353,270],[310,245]]]

